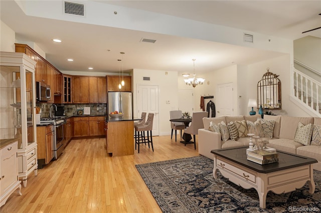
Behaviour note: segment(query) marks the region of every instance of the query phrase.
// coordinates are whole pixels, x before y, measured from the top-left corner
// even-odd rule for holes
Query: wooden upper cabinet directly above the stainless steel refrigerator
[[[118,75],[107,75],[107,91],[131,91],[131,76],[123,76],[125,85],[119,89],[118,85],[122,77]]]

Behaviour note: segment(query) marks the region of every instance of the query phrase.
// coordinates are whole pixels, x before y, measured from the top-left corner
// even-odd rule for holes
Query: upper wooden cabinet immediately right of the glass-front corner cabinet
[[[89,77],[72,77],[72,102],[89,103]]]

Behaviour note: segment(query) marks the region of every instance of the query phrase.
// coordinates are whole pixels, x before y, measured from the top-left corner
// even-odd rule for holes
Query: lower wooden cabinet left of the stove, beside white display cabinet
[[[38,168],[54,158],[54,126],[37,126]]]

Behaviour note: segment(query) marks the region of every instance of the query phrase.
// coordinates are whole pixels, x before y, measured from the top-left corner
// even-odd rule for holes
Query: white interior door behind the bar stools
[[[138,85],[138,100],[137,100],[137,115],[140,116],[142,111],[146,112],[146,119],[148,113],[154,113],[152,123],[152,135],[159,135],[158,129],[158,85]]]

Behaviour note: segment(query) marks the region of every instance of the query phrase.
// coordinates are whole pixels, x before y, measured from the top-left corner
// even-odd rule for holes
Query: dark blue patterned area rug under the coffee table
[[[213,177],[213,160],[188,157],[136,165],[163,212],[320,212],[321,172],[315,171],[315,191],[308,184],[292,192],[269,191],[266,208],[259,207],[253,188],[244,189],[223,177]]]

